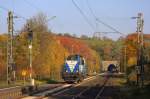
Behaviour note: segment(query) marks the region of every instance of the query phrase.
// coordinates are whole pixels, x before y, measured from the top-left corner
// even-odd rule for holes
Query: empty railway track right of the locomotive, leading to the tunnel
[[[109,77],[100,77],[98,79],[96,77],[91,81],[51,94],[49,99],[99,99],[108,81]]]

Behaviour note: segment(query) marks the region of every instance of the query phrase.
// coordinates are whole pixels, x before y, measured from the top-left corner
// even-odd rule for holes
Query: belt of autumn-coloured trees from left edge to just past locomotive
[[[16,64],[17,79],[22,78],[21,73],[26,70],[29,74],[29,42],[26,32],[20,33],[14,39],[13,56]],[[0,35],[0,43],[6,43],[7,38]],[[5,78],[6,74],[6,44],[0,48],[1,64],[0,76]],[[91,49],[84,41],[67,36],[58,36],[51,33],[36,33],[33,34],[33,48],[32,48],[32,64],[33,75],[36,79],[61,79],[62,67],[64,61],[70,54],[80,54],[85,57],[88,73],[100,71],[100,56],[97,52]],[[39,71],[40,70],[40,71]],[[27,75],[27,78],[29,75]]]

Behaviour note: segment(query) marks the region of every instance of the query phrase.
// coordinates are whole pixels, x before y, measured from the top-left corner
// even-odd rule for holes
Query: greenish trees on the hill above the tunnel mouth
[[[103,39],[84,39],[84,41],[99,53],[102,60],[120,60],[123,40],[113,41],[112,39],[105,37]]]

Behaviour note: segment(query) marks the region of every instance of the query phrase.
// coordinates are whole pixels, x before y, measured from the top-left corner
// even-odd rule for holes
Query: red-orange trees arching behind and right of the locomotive
[[[57,36],[57,39],[69,51],[70,54],[80,54],[85,57],[88,64],[89,74],[99,72],[100,57],[84,41],[67,36]]]

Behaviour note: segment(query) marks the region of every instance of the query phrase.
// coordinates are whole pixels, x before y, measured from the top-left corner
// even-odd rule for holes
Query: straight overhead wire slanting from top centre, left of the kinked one
[[[74,4],[74,6],[78,9],[78,11],[80,12],[80,14],[84,17],[84,20],[89,24],[89,26],[94,29],[94,26],[91,24],[91,22],[88,20],[88,18],[86,17],[86,15],[84,14],[84,12],[80,9],[80,7],[75,3],[74,0],[72,0],[72,3]]]

